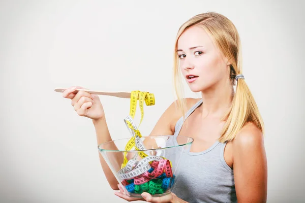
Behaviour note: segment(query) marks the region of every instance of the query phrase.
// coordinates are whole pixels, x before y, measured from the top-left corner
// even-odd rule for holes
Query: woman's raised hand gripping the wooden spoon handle
[[[105,117],[104,109],[98,95],[85,91],[76,92],[75,89],[85,89],[73,86],[63,92],[63,97],[71,99],[71,105],[80,116],[85,116],[93,120]]]

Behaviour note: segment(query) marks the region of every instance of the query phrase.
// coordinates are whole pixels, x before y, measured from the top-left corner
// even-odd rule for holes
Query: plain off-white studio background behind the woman
[[[92,122],[53,89],[154,93],[141,124],[149,134],[174,100],[176,32],[207,11],[240,33],[243,74],[266,126],[268,202],[304,200],[303,9],[303,1],[1,1],[1,202],[125,202],[103,174]],[[100,98],[112,138],[129,137],[129,100]]]

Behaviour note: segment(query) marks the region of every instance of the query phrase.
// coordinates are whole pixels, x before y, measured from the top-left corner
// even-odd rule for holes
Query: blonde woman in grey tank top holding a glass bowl
[[[194,143],[181,168],[184,175],[177,180],[173,192],[163,197],[144,192],[142,200],[266,202],[263,121],[241,75],[240,41],[235,26],[218,13],[194,16],[178,30],[174,59],[178,99],[163,113],[150,135],[187,134]],[[202,98],[182,98],[180,74],[191,91],[201,92]],[[111,140],[99,97],[84,91],[75,94],[75,88],[66,90],[63,96],[72,99],[80,116],[93,119],[98,143]],[[181,111],[176,111],[176,104]],[[187,125],[182,125],[184,120]],[[111,188],[120,190],[115,194],[128,201],[139,200],[118,188],[101,155],[100,160]]]

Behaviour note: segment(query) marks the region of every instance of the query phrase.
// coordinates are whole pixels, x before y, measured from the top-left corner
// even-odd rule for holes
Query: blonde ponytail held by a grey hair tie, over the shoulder
[[[263,119],[245,78],[243,75],[237,75],[235,79],[237,81],[236,92],[231,108],[223,118],[226,123],[219,139],[220,142],[232,141],[237,132],[248,122],[254,123],[264,133]]]

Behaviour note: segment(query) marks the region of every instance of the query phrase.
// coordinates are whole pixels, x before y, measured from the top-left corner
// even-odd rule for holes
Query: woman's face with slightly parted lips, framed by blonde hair
[[[193,92],[207,90],[228,79],[228,60],[221,56],[203,28],[188,28],[177,43],[181,73]]]

